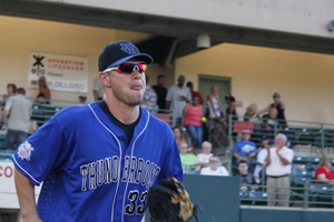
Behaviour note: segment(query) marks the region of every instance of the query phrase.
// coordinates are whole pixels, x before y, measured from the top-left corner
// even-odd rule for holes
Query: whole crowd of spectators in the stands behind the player
[[[148,84],[149,78],[146,77],[147,87],[141,103],[141,107],[153,114],[166,113],[167,110],[174,111],[176,125],[173,132],[179,149],[184,173],[238,175],[240,191],[259,190],[263,181],[269,185],[288,188],[294,154],[286,147],[286,135],[275,134],[287,127],[285,105],[281,100],[281,94],[275,92],[274,102],[262,110],[258,110],[255,103],[249,104],[243,120],[239,120],[235,105],[236,99],[233,95],[225,95],[224,101],[227,108],[222,110],[217,84],[213,84],[207,97],[203,97],[200,92],[194,90],[193,82],[187,82],[185,85],[185,80],[184,75],[179,75],[177,84],[167,89],[164,85],[164,75],[158,75],[157,83],[151,87]],[[38,85],[39,91],[32,103],[50,104],[51,92],[45,77],[39,78]],[[95,79],[92,93],[96,101],[104,99],[104,87],[98,79]],[[1,127],[8,125],[8,149],[14,150],[30,132],[32,103],[24,94],[23,88],[18,89],[16,84],[9,83],[7,94],[2,98]],[[78,103],[85,104],[86,100],[86,95],[79,95]],[[252,122],[254,128],[244,130],[240,133],[240,140],[237,139],[237,132],[232,132],[235,168],[228,172],[220,158],[213,153],[213,149],[218,144],[208,142],[207,133],[209,131],[216,135],[216,140],[224,140],[224,137],[228,134],[228,125],[234,121]],[[325,183],[334,183],[331,161],[325,155],[315,172],[315,179]],[[271,190],[271,193],[273,195],[268,196],[268,200],[272,200],[268,201],[269,205],[285,205],[284,202],[275,203],[273,200],[286,200],[288,193],[278,190]]]

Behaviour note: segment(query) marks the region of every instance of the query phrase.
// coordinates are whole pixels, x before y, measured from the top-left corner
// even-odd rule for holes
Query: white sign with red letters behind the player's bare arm
[[[13,176],[14,167],[12,162],[10,160],[0,161],[0,209],[20,208]],[[36,198],[40,193],[40,186],[35,186]]]

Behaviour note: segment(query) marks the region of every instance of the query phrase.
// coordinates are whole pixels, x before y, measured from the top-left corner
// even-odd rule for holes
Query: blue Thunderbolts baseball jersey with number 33
[[[97,102],[58,112],[12,161],[31,183],[42,183],[37,208],[45,222],[139,222],[153,184],[169,175],[183,181],[169,125],[141,109],[128,144]]]

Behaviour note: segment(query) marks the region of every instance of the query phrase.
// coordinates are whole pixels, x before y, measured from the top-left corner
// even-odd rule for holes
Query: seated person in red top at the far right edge
[[[315,171],[315,179],[321,183],[334,184],[334,171],[331,167],[330,159],[325,154],[322,154],[322,160]]]

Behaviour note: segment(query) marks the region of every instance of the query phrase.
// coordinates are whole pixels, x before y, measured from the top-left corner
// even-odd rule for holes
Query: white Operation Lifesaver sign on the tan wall
[[[28,88],[38,89],[38,78],[47,79],[50,90],[88,92],[88,58],[31,51]]]

